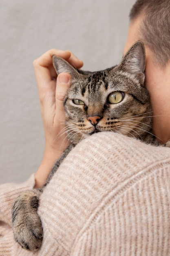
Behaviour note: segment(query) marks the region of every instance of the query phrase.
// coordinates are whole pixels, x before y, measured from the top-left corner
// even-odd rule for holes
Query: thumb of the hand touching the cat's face
[[[64,120],[64,117],[65,117],[63,100],[70,85],[71,85],[71,76],[68,73],[63,72],[57,76],[55,103],[56,103],[57,117],[59,120]]]

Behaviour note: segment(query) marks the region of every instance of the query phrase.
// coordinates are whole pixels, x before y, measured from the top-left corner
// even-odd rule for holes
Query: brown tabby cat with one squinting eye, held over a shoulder
[[[152,108],[145,81],[145,49],[136,42],[119,65],[98,72],[75,69],[53,56],[57,74],[71,74],[71,87],[64,99],[68,148],[58,159],[46,184],[21,193],[12,207],[14,239],[24,249],[35,251],[42,243],[42,225],[37,214],[39,195],[60,163],[82,139],[96,132],[113,131],[158,145],[152,132]]]

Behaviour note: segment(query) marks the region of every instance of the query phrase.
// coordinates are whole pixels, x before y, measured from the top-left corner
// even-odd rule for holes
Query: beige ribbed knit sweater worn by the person
[[[44,238],[13,240],[11,205],[34,186],[0,186],[0,256],[169,256],[170,148],[101,132],[79,143],[41,196]]]

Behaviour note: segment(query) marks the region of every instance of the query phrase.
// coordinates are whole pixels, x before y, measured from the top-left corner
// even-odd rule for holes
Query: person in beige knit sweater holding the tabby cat
[[[146,47],[153,129],[162,144],[170,139],[169,13],[169,0],[137,0],[124,48],[126,52],[137,40]],[[38,209],[44,233],[40,250],[26,251],[13,240],[13,200],[21,191],[44,184],[67,144],[64,135],[57,140],[56,135],[64,126],[62,101],[71,77],[56,76],[53,54],[77,68],[83,65],[73,53],[56,49],[33,63],[46,139],[44,157],[25,183],[0,186],[0,255],[170,255],[170,149],[112,132],[80,142],[44,190]]]

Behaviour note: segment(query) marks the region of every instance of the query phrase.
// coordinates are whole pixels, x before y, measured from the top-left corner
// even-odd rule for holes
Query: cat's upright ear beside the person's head
[[[137,41],[122,58],[121,69],[130,74],[134,74],[141,84],[145,80],[145,48],[144,43]]]

